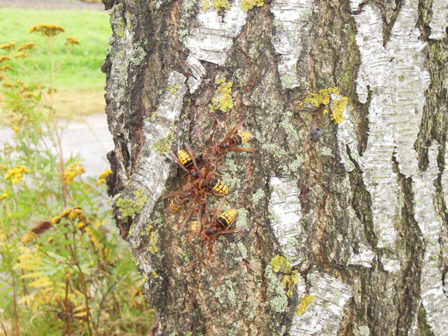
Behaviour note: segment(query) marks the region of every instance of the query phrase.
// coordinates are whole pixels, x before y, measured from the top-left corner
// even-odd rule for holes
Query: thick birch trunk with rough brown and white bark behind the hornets
[[[446,1],[104,2],[109,193],[152,335],[448,335]],[[242,119],[258,151],[216,172],[246,230],[211,244],[191,202],[164,212],[190,186],[167,153],[209,162]]]

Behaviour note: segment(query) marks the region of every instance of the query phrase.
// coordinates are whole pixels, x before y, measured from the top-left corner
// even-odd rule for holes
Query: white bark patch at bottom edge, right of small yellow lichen
[[[328,274],[311,272],[307,279],[308,294],[314,296],[304,314],[294,316],[290,328],[291,336],[299,335],[337,335],[342,321],[342,311],[346,303],[353,297],[351,287]],[[299,297],[302,297],[304,286],[300,281],[297,286]]]

